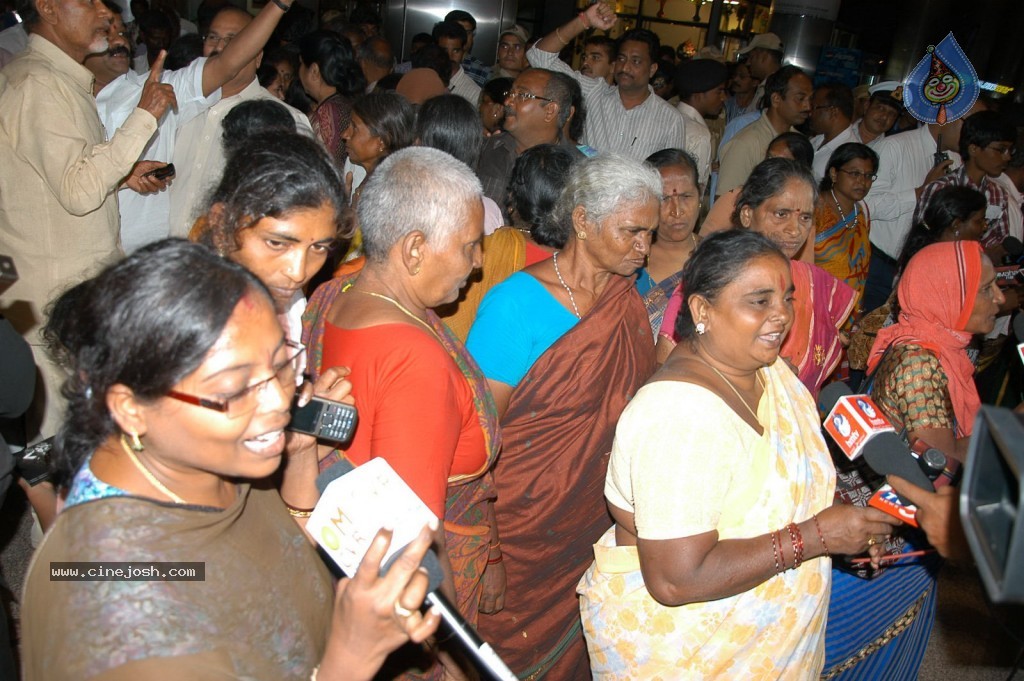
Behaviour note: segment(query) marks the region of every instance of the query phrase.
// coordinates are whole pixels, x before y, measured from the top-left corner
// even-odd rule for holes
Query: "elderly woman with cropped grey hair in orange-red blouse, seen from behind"
[[[303,340],[314,375],[352,368],[359,424],[344,457],[355,465],[387,460],[444,520],[436,537],[441,590],[475,624],[504,598],[490,473],[498,414],[483,375],[433,308],[454,301],[480,266],[480,182],[461,161],[418,146],[385,159],[364,187],[366,265],[316,290]],[[321,468],[340,456],[333,452]],[[419,652],[389,669],[422,666]],[[440,664],[459,675],[443,646]]]

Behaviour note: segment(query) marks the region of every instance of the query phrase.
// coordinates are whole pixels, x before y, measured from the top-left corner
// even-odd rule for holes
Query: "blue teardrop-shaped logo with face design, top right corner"
[[[923,123],[951,123],[971,111],[981,88],[978,72],[950,32],[903,82],[903,103]]]

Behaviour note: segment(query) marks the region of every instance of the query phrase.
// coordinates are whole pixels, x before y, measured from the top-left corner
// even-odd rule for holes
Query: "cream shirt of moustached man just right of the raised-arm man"
[[[177,177],[171,184],[172,237],[188,236],[203,200],[220,181],[225,161],[220,122],[237,104],[250,99],[269,99],[281,103],[295,119],[299,132],[312,136],[306,115],[282,102],[260,86],[256,79],[238,94],[224,97],[179,127],[173,157]]]

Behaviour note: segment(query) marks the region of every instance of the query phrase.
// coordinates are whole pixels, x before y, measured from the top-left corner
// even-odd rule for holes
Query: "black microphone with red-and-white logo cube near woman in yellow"
[[[854,394],[841,381],[827,385],[819,399],[828,412],[825,430],[848,459],[863,456],[879,475],[899,475],[922,490],[934,492],[932,481],[874,400]],[[849,426],[848,431],[841,428],[843,424]]]

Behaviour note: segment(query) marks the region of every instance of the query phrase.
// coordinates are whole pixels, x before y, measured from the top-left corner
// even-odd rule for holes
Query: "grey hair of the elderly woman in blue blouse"
[[[601,154],[572,167],[554,216],[568,228],[572,211],[583,206],[587,219],[601,224],[625,205],[662,198],[662,176],[642,161],[617,154]]]

